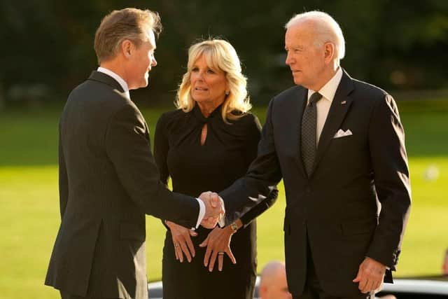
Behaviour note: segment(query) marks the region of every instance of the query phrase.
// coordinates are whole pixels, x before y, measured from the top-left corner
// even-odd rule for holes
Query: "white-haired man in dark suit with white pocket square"
[[[226,223],[283,178],[293,298],[366,298],[392,279],[411,204],[398,109],[339,65],[344,36],[327,13],[291,18],[285,50],[296,86],[271,100],[258,157],[220,193]]]

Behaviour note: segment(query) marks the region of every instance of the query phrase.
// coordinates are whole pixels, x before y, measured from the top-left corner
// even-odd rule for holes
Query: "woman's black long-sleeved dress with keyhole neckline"
[[[167,183],[172,178],[173,190],[199,196],[204,191],[219,192],[243,176],[257,155],[260,140],[260,123],[256,116],[247,113],[230,124],[221,117],[221,106],[204,118],[199,107],[185,113],[181,110],[164,113],[155,130],[155,160],[160,179]],[[207,123],[207,139],[201,145],[201,132]],[[192,237],[196,256],[191,263],[184,258],[176,260],[169,230],[165,237],[162,260],[164,299],[251,299],[256,277],[256,223],[253,218],[270,207],[277,191],[241,217],[244,228],[233,236],[230,248],[237,260],[233,265],[227,255],[223,271],[213,272],[204,267],[206,249],[199,244],[211,230],[197,229]]]

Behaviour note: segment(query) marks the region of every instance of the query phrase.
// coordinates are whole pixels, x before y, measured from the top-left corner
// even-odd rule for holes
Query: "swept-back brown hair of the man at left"
[[[106,15],[95,34],[94,50],[98,63],[115,57],[121,43],[130,40],[137,47],[147,41],[148,29],[158,36],[162,32],[160,16],[148,9],[124,8]]]

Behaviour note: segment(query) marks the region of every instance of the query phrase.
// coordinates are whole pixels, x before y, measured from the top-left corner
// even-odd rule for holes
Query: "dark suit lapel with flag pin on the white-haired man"
[[[339,87],[336,90],[335,98],[331,103],[330,111],[328,111],[325,125],[323,125],[321,137],[319,138],[314,169],[316,169],[322,159],[325,150],[330,146],[332,138],[335,136],[337,130],[339,130],[347,111],[349,111],[352,99],[348,95],[352,90],[353,82],[350,76],[344,71]]]

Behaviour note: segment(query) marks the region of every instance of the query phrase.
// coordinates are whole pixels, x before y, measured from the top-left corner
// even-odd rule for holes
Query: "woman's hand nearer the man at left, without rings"
[[[176,260],[183,263],[183,255],[185,254],[188,263],[190,263],[191,259],[194,258],[196,254],[191,237],[196,237],[197,232],[184,228],[182,225],[178,225],[171,221],[165,221],[165,223],[169,227],[169,230],[171,230]]]

